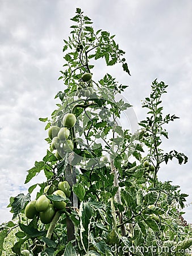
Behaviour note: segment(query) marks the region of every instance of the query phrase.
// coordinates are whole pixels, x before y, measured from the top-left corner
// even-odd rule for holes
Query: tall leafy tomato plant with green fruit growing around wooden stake
[[[65,89],[56,94],[60,103],[51,118],[40,118],[47,122],[47,154],[28,170],[25,183],[40,171],[47,180],[10,198],[17,222],[2,226],[0,247],[18,228],[14,255],[186,255],[181,249],[192,245],[191,227],[182,218],[187,195],[158,179],[162,163],[187,163],[183,153],[161,148],[162,138],[168,139],[165,123],[178,118],[162,112],[168,85],[153,81],[143,101],[146,119],[135,133],[123,129],[120,117],[131,105],[117,96],[127,85],[108,73],[95,80],[93,62],[121,64],[130,75],[125,52],[110,32],[95,31],[81,9],[72,20],[59,77]]]

